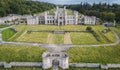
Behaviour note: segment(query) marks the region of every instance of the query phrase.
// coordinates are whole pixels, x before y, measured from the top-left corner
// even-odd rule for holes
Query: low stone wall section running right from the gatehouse
[[[92,67],[92,68],[101,68],[101,69],[120,68],[120,64],[100,64],[100,63],[70,63],[69,66]]]

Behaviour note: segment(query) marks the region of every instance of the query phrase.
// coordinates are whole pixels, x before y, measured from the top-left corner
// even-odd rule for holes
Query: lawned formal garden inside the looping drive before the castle
[[[27,32],[27,30],[86,30],[87,27],[88,25],[17,25],[14,29],[18,32],[7,29],[2,33],[5,41],[65,44],[64,38],[67,32],[65,34],[54,34],[51,32]],[[100,32],[100,30],[107,30],[106,27],[102,25],[90,27],[94,32],[69,32],[72,44],[106,44],[116,42],[116,37],[112,31]],[[51,39],[50,42],[48,42],[48,38]]]

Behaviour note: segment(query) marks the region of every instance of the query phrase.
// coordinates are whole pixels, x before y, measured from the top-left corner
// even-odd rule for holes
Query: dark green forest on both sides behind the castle
[[[107,3],[80,3],[66,6],[68,9],[76,10],[88,16],[96,16],[104,21],[120,23],[120,5]],[[8,14],[35,14],[55,8],[55,4],[33,0],[0,0],[0,17]]]

